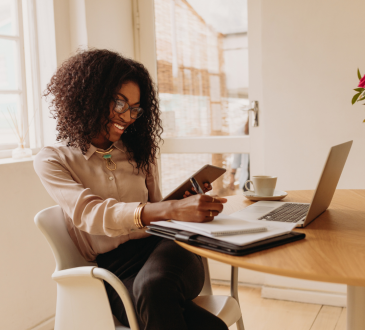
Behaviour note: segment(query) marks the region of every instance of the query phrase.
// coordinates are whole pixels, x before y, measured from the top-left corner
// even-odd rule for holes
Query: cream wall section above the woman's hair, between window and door
[[[132,0],[54,0],[57,65],[78,48],[134,58]]]

